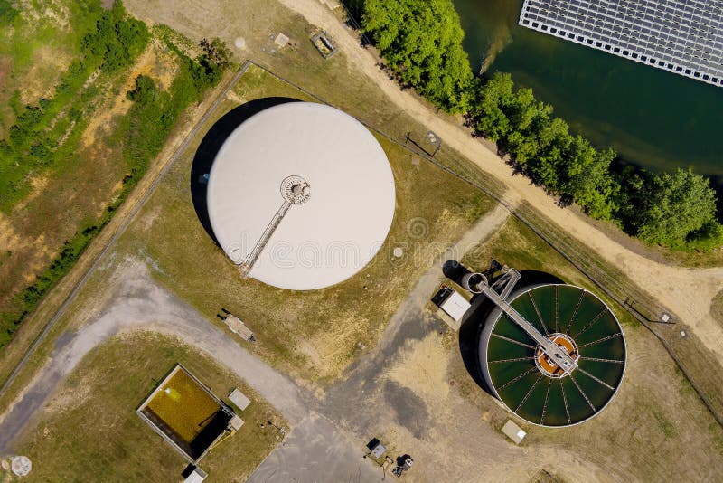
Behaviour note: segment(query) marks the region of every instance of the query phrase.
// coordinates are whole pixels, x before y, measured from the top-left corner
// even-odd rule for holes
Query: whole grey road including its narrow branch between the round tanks
[[[252,476],[253,481],[324,481],[329,478],[334,481],[373,481],[381,478],[380,469],[362,459],[363,441],[352,443],[333,423],[315,411],[329,412],[334,419],[352,416],[343,411],[348,406],[349,391],[359,390],[367,380],[371,382],[374,379],[371,374],[385,365],[409,337],[420,338],[430,330],[418,314],[441,277],[444,261],[459,258],[471,244],[498,228],[506,217],[506,211],[496,208],[476,223],[455,247],[437,259],[392,317],[380,346],[357,366],[351,380],[337,386],[323,403],[315,402],[285,375],[278,374],[240,347],[228,334],[212,326],[183,300],[159,287],[150,279],[143,263],[126,260],[118,268],[117,279],[122,282],[108,308],[80,332],[66,333],[58,339],[50,363],[0,421],[0,454],[7,452],[12,441],[32,424],[33,415],[42,409],[53,390],[93,347],[121,331],[153,330],[178,336],[229,367],[282,412],[292,425],[293,430],[284,445],[269,455]],[[390,393],[393,395],[394,392]],[[398,395],[400,399],[405,397],[405,394]],[[365,419],[360,418],[357,425]]]

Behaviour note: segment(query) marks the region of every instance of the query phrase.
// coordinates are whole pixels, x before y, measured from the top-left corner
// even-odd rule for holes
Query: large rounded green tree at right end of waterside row
[[[631,223],[644,242],[676,244],[715,220],[716,195],[709,179],[689,169],[651,175]]]

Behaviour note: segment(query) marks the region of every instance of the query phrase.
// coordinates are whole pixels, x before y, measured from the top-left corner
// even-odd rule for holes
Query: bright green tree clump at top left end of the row
[[[450,112],[468,108],[465,33],[448,0],[367,0],[362,26],[399,80]]]

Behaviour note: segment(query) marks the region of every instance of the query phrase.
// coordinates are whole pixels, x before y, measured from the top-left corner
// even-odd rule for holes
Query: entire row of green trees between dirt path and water
[[[578,204],[648,243],[681,248],[723,242],[707,178],[690,169],[611,169],[615,151],[570,134],[552,107],[516,86],[510,74],[474,77],[451,0],[365,0],[362,29],[402,83],[441,109],[464,113],[477,134],[496,142],[562,203]]]

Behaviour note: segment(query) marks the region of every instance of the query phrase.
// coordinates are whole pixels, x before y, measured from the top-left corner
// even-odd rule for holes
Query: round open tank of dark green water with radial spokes
[[[501,308],[493,308],[479,342],[482,374],[493,394],[540,426],[569,426],[602,411],[626,365],[623,330],[605,302],[566,284],[524,287],[507,302],[577,367],[563,370]]]

